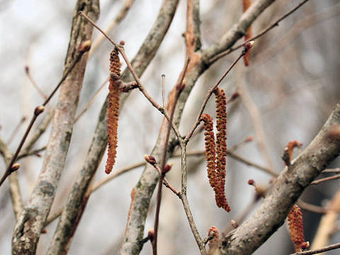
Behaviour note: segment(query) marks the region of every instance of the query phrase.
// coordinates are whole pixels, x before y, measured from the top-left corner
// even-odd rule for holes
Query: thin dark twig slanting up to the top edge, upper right
[[[268,33],[270,30],[272,30],[273,28],[275,28],[276,26],[278,26],[278,23],[280,23],[280,21],[283,21],[285,18],[287,18],[288,16],[290,16],[290,14],[292,14],[293,12],[295,12],[298,8],[300,8],[302,5],[306,4],[307,1],[310,0],[305,0],[302,1],[300,4],[297,4],[297,6],[295,6],[292,10],[288,11],[288,13],[285,13],[283,16],[281,16],[280,18],[278,18],[276,21],[274,21],[273,23],[271,23],[271,25],[269,25],[268,27],[266,27],[265,29],[261,30],[260,33],[258,33],[257,35],[253,36],[252,38],[249,38],[248,40],[244,41],[243,43],[234,46],[234,47],[230,47],[228,50],[225,50],[224,52],[221,52],[220,54],[216,55],[215,57],[212,57],[212,59],[210,60],[211,62],[215,62],[216,60],[219,60],[221,57],[224,57],[225,55],[228,55],[229,53],[233,52],[234,50],[239,49],[240,47],[243,47],[246,42],[250,42],[252,40],[256,40],[258,38],[260,38],[262,35]]]

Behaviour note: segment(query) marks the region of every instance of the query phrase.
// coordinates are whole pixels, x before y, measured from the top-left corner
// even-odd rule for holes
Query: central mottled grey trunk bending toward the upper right
[[[218,53],[232,47],[239,38],[242,38],[246,29],[251,25],[251,23],[264,11],[268,6],[270,6],[275,0],[259,0],[254,3],[247,11],[242,15],[239,22],[237,22],[233,28],[222,37],[219,42],[211,45],[206,50],[197,50],[191,62],[189,63],[186,72],[186,87],[183,89],[181,96],[179,96],[178,103],[176,105],[174,113],[174,123],[179,125],[181,120],[181,115],[183,108],[186,104],[188,96],[196,84],[196,81],[205,70],[210,67],[212,62],[217,59],[213,59]],[[198,22],[199,19],[195,19]],[[212,61],[213,60],[213,61]],[[181,79],[181,77],[179,78]],[[174,101],[174,96],[176,95],[176,88],[169,94],[168,102]],[[164,141],[166,135],[167,122],[163,121],[162,127],[159,130],[159,137],[157,139],[154,149],[152,149],[152,156],[156,159],[161,159],[162,152],[164,149]],[[171,134],[169,139],[169,149],[167,152],[167,157],[173,152],[174,143],[176,143],[176,137]],[[162,164],[162,162],[159,162]],[[132,203],[132,212],[130,217],[130,222],[127,226],[127,231],[125,232],[125,237],[123,245],[120,249],[120,254],[139,254],[142,248],[140,241],[143,238],[145,219],[147,217],[147,210],[149,208],[149,202],[154,192],[154,187],[158,181],[158,173],[154,171],[152,166],[147,165],[145,170],[138,181],[136,188],[135,200]]]

